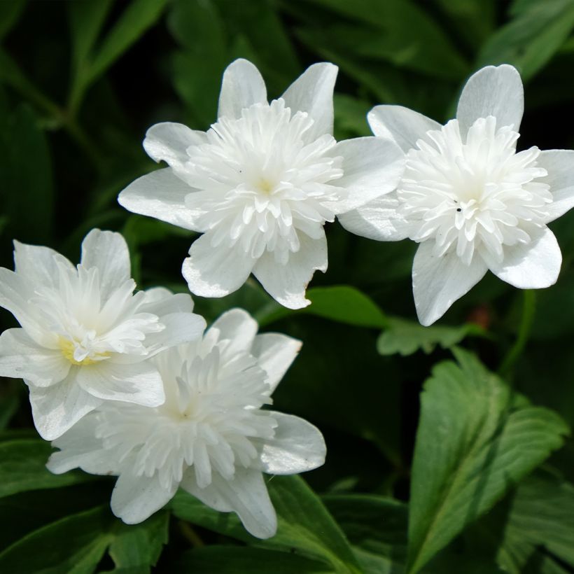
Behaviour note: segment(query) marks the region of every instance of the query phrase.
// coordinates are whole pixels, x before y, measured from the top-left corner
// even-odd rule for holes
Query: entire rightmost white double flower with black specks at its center
[[[574,152],[517,152],[524,92],[512,66],[470,77],[456,120],[441,126],[402,106],[376,106],[377,136],[407,153],[397,190],[349,214],[349,231],[419,243],[412,268],[419,321],[430,325],[488,269],[521,289],[552,285],[561,252],[547,224],[574,205]]]

